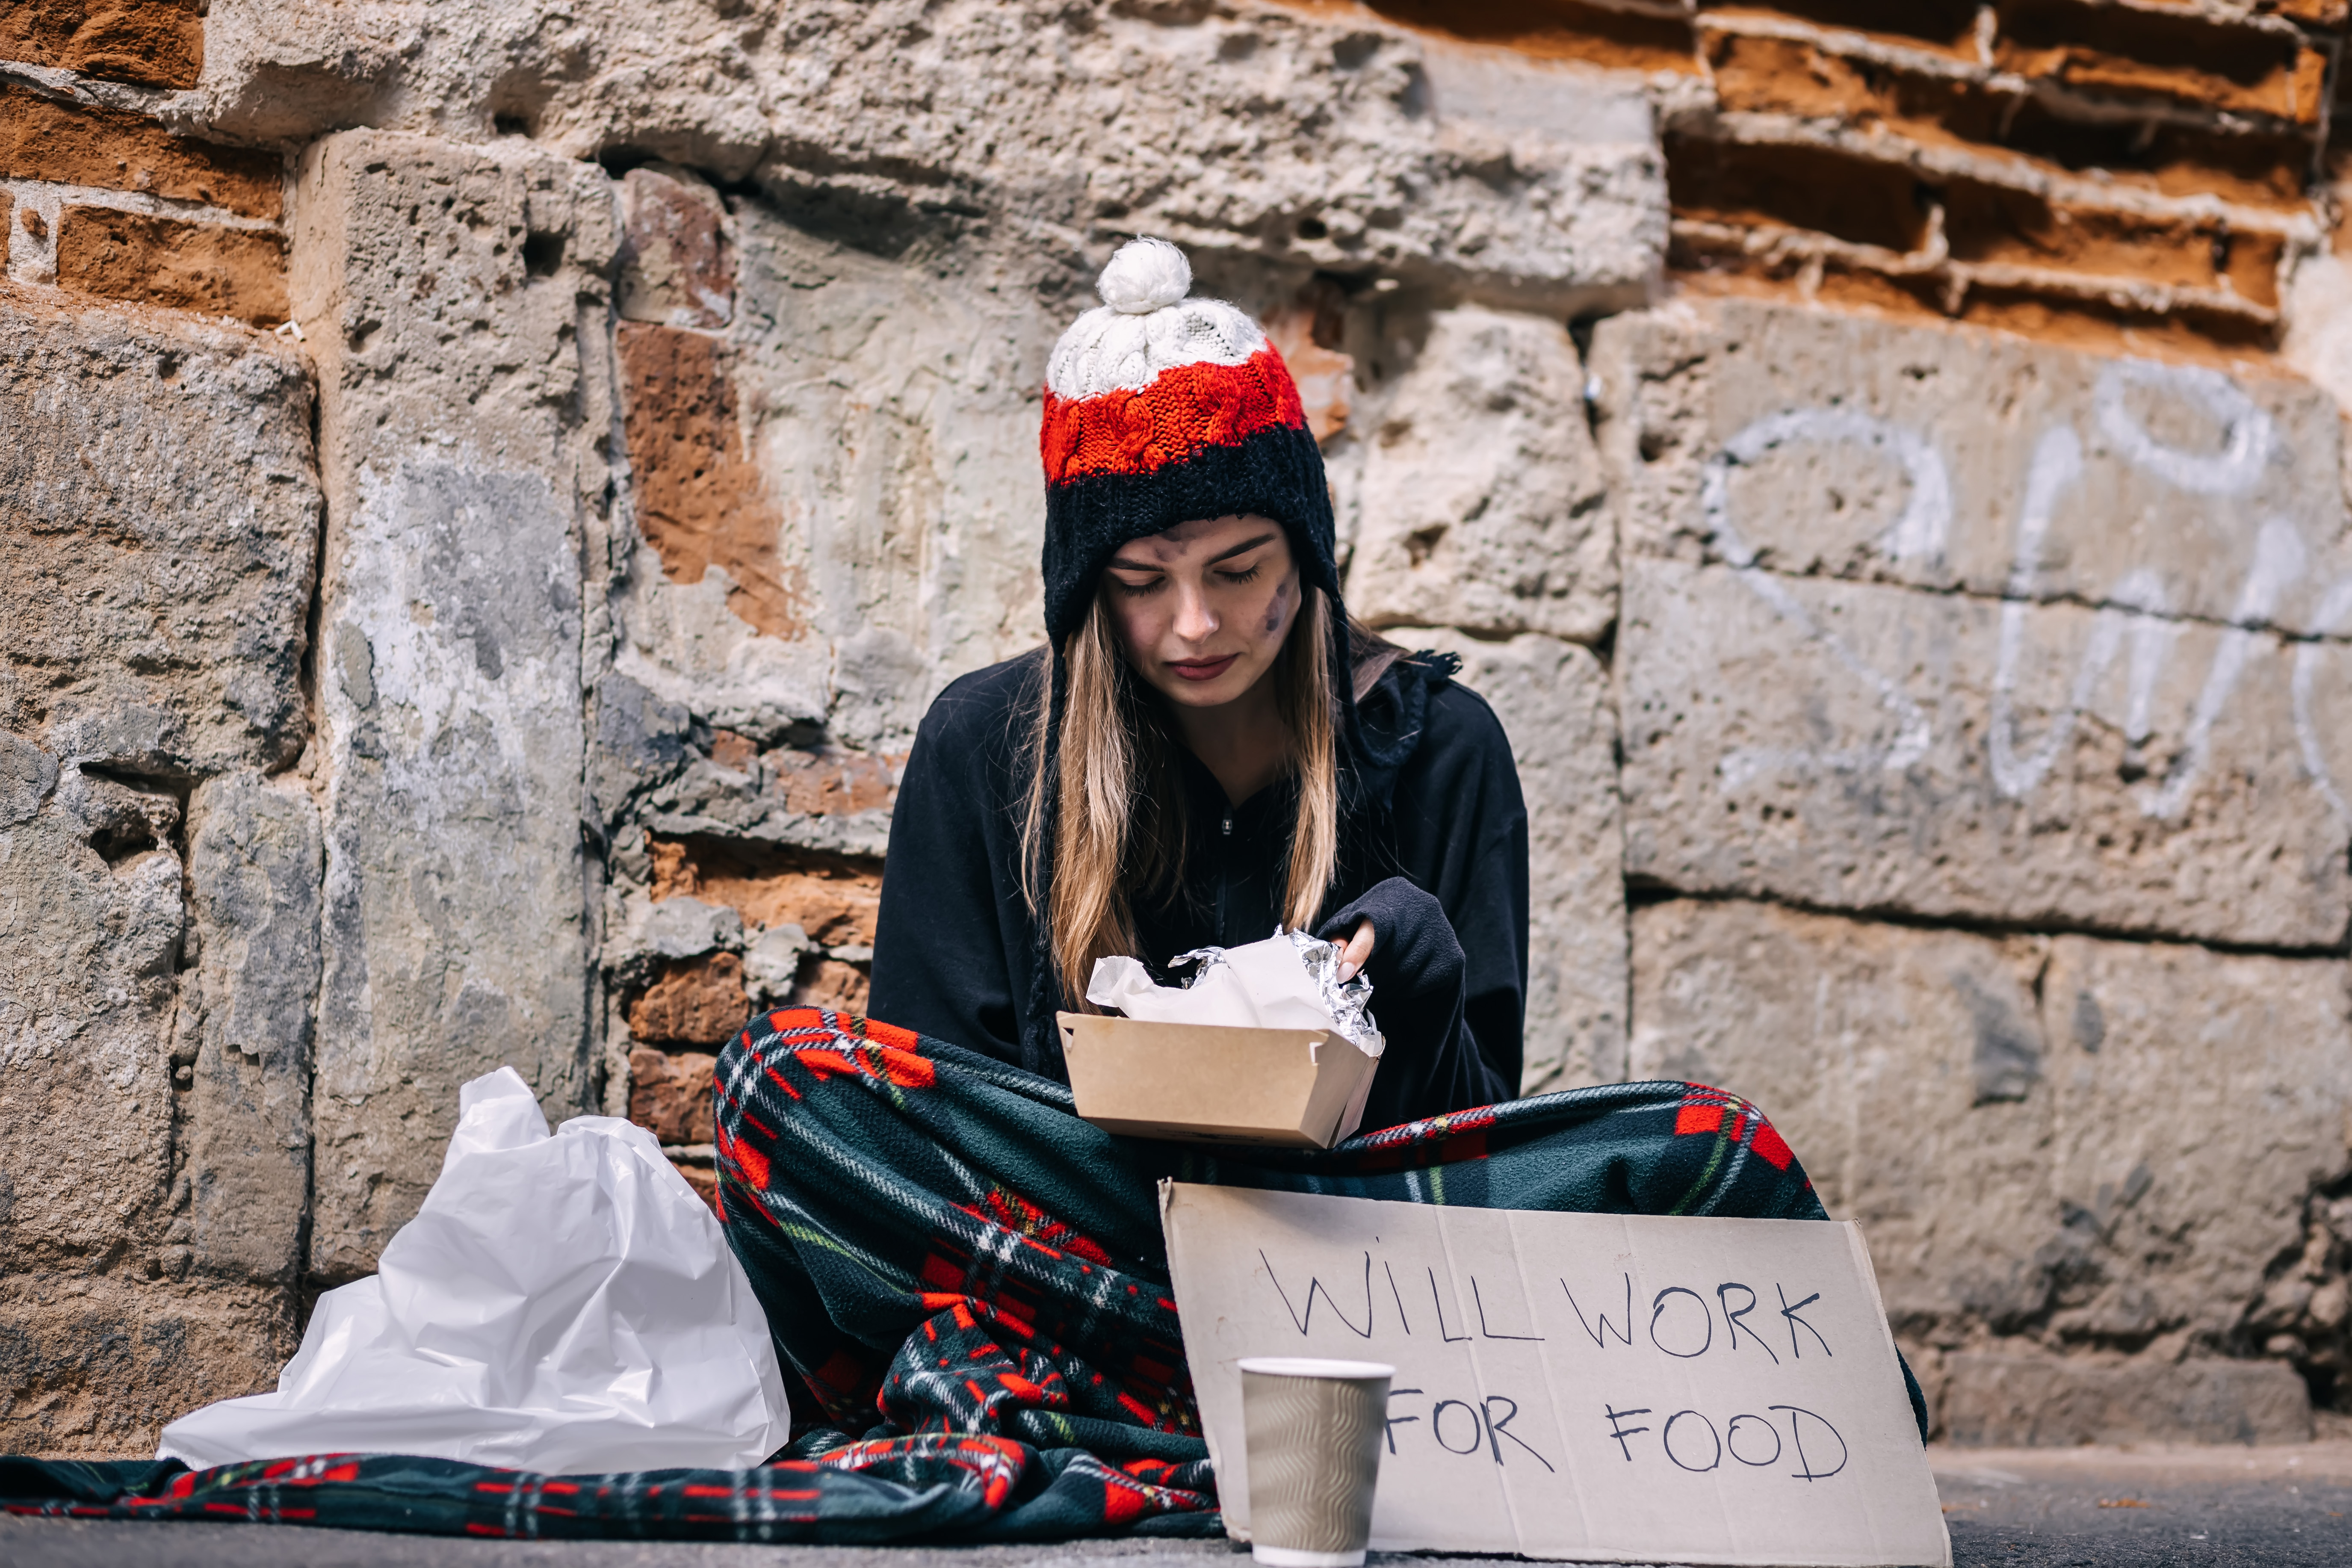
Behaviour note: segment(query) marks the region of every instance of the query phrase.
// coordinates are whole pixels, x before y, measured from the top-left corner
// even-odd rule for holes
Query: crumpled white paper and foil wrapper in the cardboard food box
[[[1136,959],[1096,959],[1087,1001],[1152,1023],[1240,1030],[1331,1030],[1364,1056],[1388,1041],[1374,1027],[1371,980],[1338,980],[1338,950],[1305,931],[1275,931],[1247,947],[1200,947],[1169,959],[1195,964],[1185,985],[1157,985]]]

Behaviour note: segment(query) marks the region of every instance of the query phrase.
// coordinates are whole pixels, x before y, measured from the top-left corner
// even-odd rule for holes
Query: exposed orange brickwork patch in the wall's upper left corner
[[[273,327],[285,155],[172,129],[202,2],[33,0],[0,16],[7,277]]]

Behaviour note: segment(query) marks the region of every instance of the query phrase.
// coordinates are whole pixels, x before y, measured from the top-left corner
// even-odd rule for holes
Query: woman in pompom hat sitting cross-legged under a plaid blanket
[[[717,1067],[727,1239],[807,1396],[795,1450],[983,1500],[953,1528],[1007,1540],[1214,1528],[1164,1175],[1823,1218],[1780,1135],[1722,1091],[1512,1098],[1526,813],[1503,731],[1449,661],[1348,621],[1291,376],[1188,287],[1171,244],[1136,240],[1054,350],[1049,646],[922,722],[873,1018],[769,1013]],[[1073,1114],[1054,1013],[1084,1006],[1098,957],[1164,966],[1277,924],[1371,973],[1388,1051],[1364,1135],[1204,1150]],[[1917,1389],[1915,1413],[1924,1432]]]

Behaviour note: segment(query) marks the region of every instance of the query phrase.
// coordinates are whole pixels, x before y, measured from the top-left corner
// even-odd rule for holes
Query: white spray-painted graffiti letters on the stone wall
[[[2223,428],[2220,449],[2190,451],[2159,442],[2126,404],[2131,388],[2161,390],[2204,409]],[[2272,418],[2237,383],[2209,369],[2138,360],[2110,364],[2093,393],[2093,416],[2100,435],[2117,456],[2194,496],[2223,498],[2253,491],[2277,451],[2277,425]],[[1773,614],[1795,625],[1809,642],[1828,649],[1837,663],[1877,693],[1879,705],[1898,722],[1898,738],[1877,750],[1729,750],[1719,762],[1719,773],[1724,785],[1733,790],[1769,771],[1858,771],[1867,766],[1903,771],[1926,757],[1933,741],[1929,717],[1900,684],[1813,621],[1778,578],[1757,567],[1757,550],[1731,522],[1731,468],[1755,463],[1766,451],[1790,442],[1851,442],[1882,449],[1903,463],[1910,480],[1910,496],[1903,512],[1875,541],[1893,559],[1940,562],[1952,522],[1950,477],[1936,449],[1917,433],[1853,409],[1790,409],[1771,414],[1745,425],[1705,463],[1700,473],[1700,508],[1715,548]],[[2025,614],[2042,590],[2044,557],[2058,505],[2082,482],[2082,475],[2084,449],[2074,428],[2056,425],[2046,430],[2034,444],[2025,470],[2025,496],[2018,508],[2009,583],[2002,595],[1992,715],[1985,736],[1992,783],[2009,799],[2032,795],[2056,766],[2098,684],[2114,665],[2117,654],[2124,651],[2126,639],[2131,646],[2131,675],[2124,710],[2124,745],[2126,762],[2138,762],[2154,733],[2157,684],[2171,646],[2183,630],[2183,623],[2173,618],[2161,574],[2152,567],[2126,571],[2107,590],[2091,621],[2091,639],[2074,665],[2065,705],[2051,717],[2042,743],[2030,752],[2020,750],[2016,682],[2025,656]],[[2190,790],[2211,759],[2213,726],[2230,705],[2230,693],[2246,670],[2256,637],[2263,635],[2258,628],[2277,614],[2281,595],[2303,574],[2305,559],[2307,550],[2296,527],[2286,517],[2267,517],[2256,536],[2253,564],[2230,611],[2230,625],[2213,649],[2204,689],[2190,710],[2183,745],[2173,755],[2164,780],[2138,792],[2143,816],[2176,818],[2187,806]],[[2352,578],[2328,592],[2314,630],[2333,635],[2345,621],[2352,621]],[[2305,769],[2319,785],[2319,792],[2336,811],[2352,820],[2352,806],[2338,792],[2319,752],[2319,731],[2310,712],[2317,658],[2319,644],[2305,644],[2296,656],[2296,736],[2303,745]]]

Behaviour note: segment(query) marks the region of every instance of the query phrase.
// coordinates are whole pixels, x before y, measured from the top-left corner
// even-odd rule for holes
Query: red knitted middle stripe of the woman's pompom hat
[[[1037,435],[1044,482],[1157,473],[1204,447],[1240,447],[1258,430],[1305,430],[1291,371],[1268,343],[1240,364],[1176,364],[1136,390],[1068,400],[1044,395]]]

